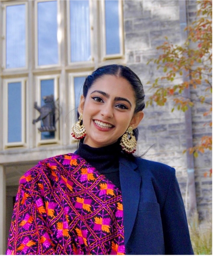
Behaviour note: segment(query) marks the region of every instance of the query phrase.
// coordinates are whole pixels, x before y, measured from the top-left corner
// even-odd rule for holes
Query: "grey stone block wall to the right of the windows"
[[[188,6],[186,6],[186,3]],[[147,60],[158,54],[156,46],[165,41],[165,36],[175,44],[184,41],[183,16],[194,19],[196,13],[195,1],[123,1],[124,29],[125,29],[125,57],[127,65],[139,75],[146,98],[151,95],[148,81],[154,81],[162,76],[153,63],[146,65]],[[191,91],[193,95],[194,91]],[[203,126],[206,118],[202,115],[204,105],[196,104],[192,109],[193,140],[194,143],[204,134],[211,133],[210,127]],[[137,153],[141,155],[149,147],[151,149],[144,158],[164,162],[176,169],[181,193],[186,210],[188,209],[187,191],[187,159],[183,150],[186,148],[185,115],[175,110],[173,113],[172,100],[163,106],[153,104],[145,108],[144,119],[139,126],[139,147]],[[204,173],[211,168],[212,152],[199,155],[194,159],[195,185],[199,218],[211,216],[212,181],[204,177]]]

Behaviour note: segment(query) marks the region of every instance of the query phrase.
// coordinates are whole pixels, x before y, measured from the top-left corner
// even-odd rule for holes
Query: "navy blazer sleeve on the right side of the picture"
[[[165,254],[193,255],[184,202],[172,168],[169,188],[161,211]]]

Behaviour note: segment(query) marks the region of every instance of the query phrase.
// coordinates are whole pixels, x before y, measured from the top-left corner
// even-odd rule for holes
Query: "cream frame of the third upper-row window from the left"
[[[92,0],[94,1],[94,0]],[[71,67],[91,67],[91,65],[94,65],[94,51],[93,51],[93,45],[94,45],[94,24],[93,24],[93,8],[92,8],[92,1],[89,0],[89,17],[90,17],[90,52],[91,52],[91,60],[88,61],[75,61],[71,62],[71,35],[70,35],[70,1],[67,0],[67,63]]]

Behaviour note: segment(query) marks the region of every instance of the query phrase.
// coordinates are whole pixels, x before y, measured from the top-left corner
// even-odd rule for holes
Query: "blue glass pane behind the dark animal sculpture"
[[[54,79],[41,80],[41,107],[45,104],[48,105],[47,100],[44,97],[54,96]],[[45,102],[46,101],[46,102]],[[41,127],[45,126],[41,121]],[[41,132],[41,139],[54,139],[55,132]]]

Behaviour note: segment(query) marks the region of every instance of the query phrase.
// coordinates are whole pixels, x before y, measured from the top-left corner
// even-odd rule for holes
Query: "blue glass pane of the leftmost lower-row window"
[[[22,141],[21,82],[8,83],[8,142]]]

